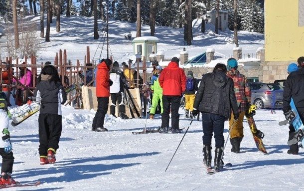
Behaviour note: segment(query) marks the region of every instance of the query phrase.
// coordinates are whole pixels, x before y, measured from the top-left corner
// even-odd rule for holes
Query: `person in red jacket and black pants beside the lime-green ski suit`
[[[179,131],[179,105],[182,93],[186,89],[186,75],[183,69],[178,67],[179,59],[173,57],[164,68],[159,77],[159,85],[162,87],[163,113],[161,114],[161,127],[159,133],[167,133],[169,127],[169,113],[171,108],[172,133]]]

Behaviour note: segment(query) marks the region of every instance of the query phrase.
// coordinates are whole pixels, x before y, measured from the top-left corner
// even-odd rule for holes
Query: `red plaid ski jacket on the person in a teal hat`
[[[240,74],[238,70],[232,68],[227,73],[234,83],[234,93],[238,102],[239,112],[246,111],[248,103],[251,101],[251,90],[246,76]]]

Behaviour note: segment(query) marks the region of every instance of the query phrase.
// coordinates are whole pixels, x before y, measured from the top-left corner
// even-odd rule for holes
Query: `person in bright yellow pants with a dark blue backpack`
[[[186,118],[189,117],[190,110],[190,118],[192,119],[192,110],[195,99],[195,91],[197,91],[197,82],[193,77],[193,72],[190,70],[187,73],[187,82],[186,82],[186,91],[185,94],[185,110],[186,110]]]

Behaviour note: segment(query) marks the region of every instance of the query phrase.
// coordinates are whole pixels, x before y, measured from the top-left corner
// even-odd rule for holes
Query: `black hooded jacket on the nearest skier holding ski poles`
[[[233,80],[221,70],[204,74],[195,96],[193,108],[229,118],[239,114]]]

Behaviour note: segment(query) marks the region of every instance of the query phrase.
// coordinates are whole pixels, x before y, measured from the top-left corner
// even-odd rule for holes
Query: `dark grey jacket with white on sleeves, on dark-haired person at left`
[[[36,102],[40,103],[40,114],[62,115],[61,104],[67,100],[61,82],[49,81],[50,75],[41,74],[35,89]]]

